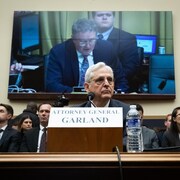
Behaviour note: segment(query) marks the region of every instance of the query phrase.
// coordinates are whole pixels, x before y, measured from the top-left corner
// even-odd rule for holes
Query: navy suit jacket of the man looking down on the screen
[[[97,40],[93,50],[94,63],[104,61],[111,66],[115,75],[115,89],[128,89],[127,79],[122,65],[118,62],[112,44]],[[78,86],[79,62],[72,39],[54,46],[49,53],[49,63],[46,74],[46,91],[72,92],[73,86]]]

